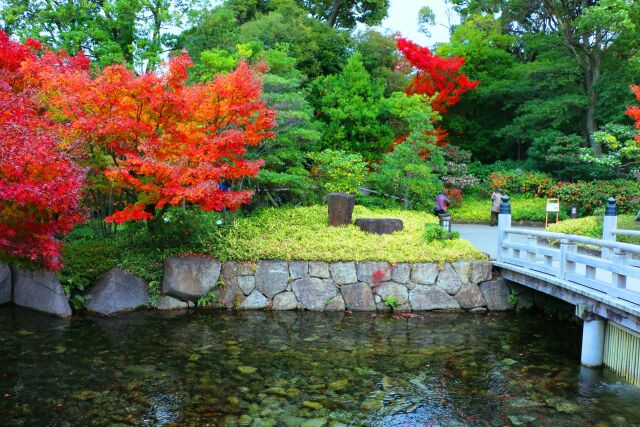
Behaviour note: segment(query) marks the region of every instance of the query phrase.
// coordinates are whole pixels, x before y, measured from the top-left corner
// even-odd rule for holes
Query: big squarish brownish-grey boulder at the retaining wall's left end
[[[162,292],[185,301],[197,301],[214,289],[220,278],[220,262],[198,256],[164,260]]]

